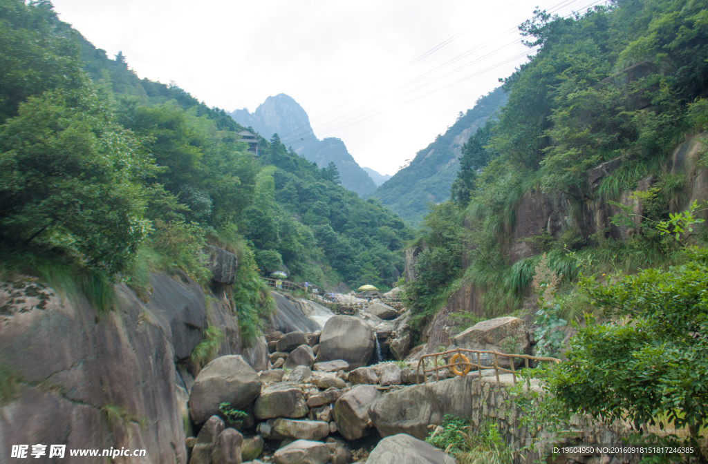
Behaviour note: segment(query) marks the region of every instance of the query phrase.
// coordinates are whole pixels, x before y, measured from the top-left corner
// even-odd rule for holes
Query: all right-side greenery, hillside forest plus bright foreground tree
[[[479,296],[474,316],[538,309],[539,352],[563,348],[567,361],[545,373],[542,411],[527,408],[536,425],[590,414],[644,439],[668,428],[666,443],[686,427],[695,445],[708,424],[696,180],[708,166],[708,11],[617,0],[571,18],[536,11],[520,29],[539,52],[506,79],[508,103],[465,144],[452,201],[411,243],[413,326],[463,284]],[[577,332],[561,347],[564,319]]]

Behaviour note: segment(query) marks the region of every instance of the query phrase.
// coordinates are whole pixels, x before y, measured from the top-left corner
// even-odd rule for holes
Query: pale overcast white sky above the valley
[[[518,25],[598,0],[52,0],[140,78],[253,112],[286,93],[316,137],[394,174],[527,61]],[[300,134],[280,134],[287,145]]]

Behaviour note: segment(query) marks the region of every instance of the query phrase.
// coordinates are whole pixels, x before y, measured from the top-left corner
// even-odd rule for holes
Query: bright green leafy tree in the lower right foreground
[[[571,412],[629,419],[637,430],[661,419],[694,439],[708,425],[708,249],[686,255],[667,270],[583,283],[610,321],[588,317],[549,380]]]

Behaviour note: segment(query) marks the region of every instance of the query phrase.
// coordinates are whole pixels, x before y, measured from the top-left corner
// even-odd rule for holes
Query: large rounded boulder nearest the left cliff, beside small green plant
[[[219,413],[222,402],[241,410],[259,393],[261,379],[241,356],[220,356],[195,378],[189,395],[189,413],[195,424],[201,425]]]

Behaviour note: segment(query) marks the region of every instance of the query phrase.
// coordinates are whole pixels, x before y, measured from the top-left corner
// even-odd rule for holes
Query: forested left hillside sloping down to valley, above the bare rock
[[[89,293],[120,281],[147,291],[149,270],[202,281],[201,250],[217,245],[239,257],[243,320],[268,306],[254,277],[283,266],[321,286],[399,278],[401,219],[278,137],[256,157],[224,110],[139,79],[48,1],[1,1],[0,68],[5,271],[62,274]]]

